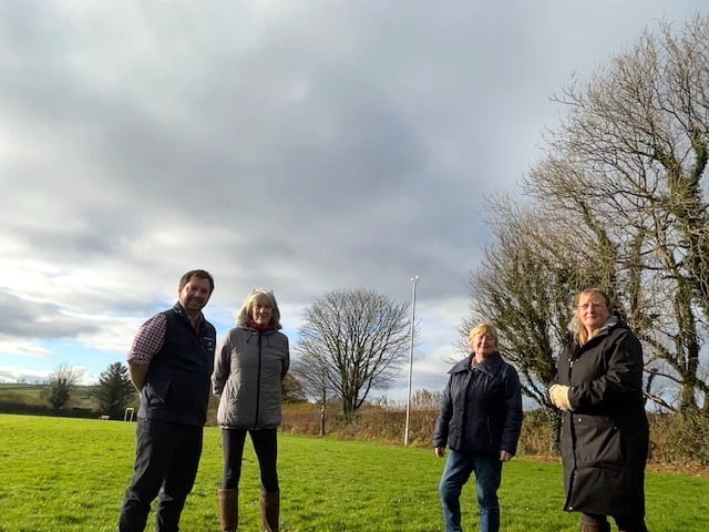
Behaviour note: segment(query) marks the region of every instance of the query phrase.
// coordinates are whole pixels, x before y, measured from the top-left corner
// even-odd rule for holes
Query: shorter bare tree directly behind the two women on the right
[[[572,317],[571,297],[578,286],[604,285],[607,268],[568,250],[578,235],[510,198],[490,200],[493,243],[470,280],[471,315],[462,336],[479,320],[499,330],[501,351],[520,371],[523,393],[551,407],[546,387],[556,372],[556,355]]]

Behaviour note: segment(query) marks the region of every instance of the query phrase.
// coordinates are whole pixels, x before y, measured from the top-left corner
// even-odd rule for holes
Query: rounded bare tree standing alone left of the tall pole
[[[386,389],[407,359],[407,304],[367,289],[336,290],[304,314],[298,376],[322,403],[332,390],[351,420],[369,392]],[[309,377],[308,377],[309,376]]]

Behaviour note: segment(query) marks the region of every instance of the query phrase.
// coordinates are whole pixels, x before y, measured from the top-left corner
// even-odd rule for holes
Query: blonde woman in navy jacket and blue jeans
[[[517,371],[497,352],[497,331],[489,323],[469,335],[472,352],[449,371],[435,421],[433,448],[450,453],[440,483],[446,532],[460,532],[460,495],[475,473],[482,532],[500,530],[497,489],[502,463],[517,450],[522,430],[522,391]]]

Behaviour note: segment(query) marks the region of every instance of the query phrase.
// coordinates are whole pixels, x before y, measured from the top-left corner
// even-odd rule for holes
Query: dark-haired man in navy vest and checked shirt
[[[202,456],[210,395],[216,330],[202,309],[213,290],[207,272],[187,272],[175,306],[145,321],[133,339],[129,375],[141,393],[141,408],[135,471],[121,508],[120,532],[143,532],[158,493],[155,529],[179,529]]]

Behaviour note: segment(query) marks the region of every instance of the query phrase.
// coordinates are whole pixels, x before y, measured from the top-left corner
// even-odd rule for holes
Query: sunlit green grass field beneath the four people
[[[131,478],[134,423],[0,416],[0,532],[114,531]],[[438,481],[443,460],[428,449],[281,434],[281,532],[434,532],[442,530]],[[218,530],[220,436],[205,430],[185,532]],[[561,510],[556,463],[518,458],[505,464],[502,530],[577,531]],[[240,485],[239,532],[259,531],[258,467],[250,446]],[[653,532],[709,530],[709,479],[648,473]],[[463,493],[465,530],[477,528],[473,481]],[[146,530],[153,530],[153,521]]]

